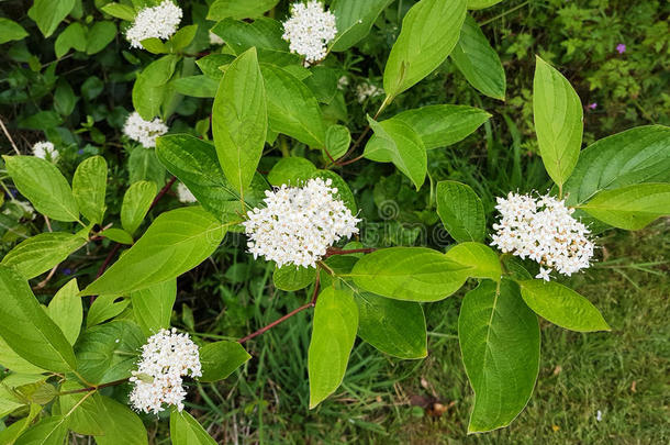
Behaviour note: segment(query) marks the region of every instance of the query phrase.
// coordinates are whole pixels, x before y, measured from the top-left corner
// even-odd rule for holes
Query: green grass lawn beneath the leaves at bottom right
[[[254,358],[200,390],[190,410],[226,444],[668,443],[669,234],[661,221],[602,238],[601,262],[571,285],[613,331],[581,334],[541,321],[536,390],[509,429],[466,434],[472,392],[456,337],[462,293],[425,307],[428,358],[395,360],[358,342],[342,388],[316,410],[308,409],[309,312],[249,342]],[[268,298],[269,280],[266,274],[249,296],[254,326],[302,303],[300,292]]]

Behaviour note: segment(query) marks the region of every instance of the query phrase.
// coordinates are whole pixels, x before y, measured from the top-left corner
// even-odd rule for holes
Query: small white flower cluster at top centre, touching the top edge
[[[291,53],[305,57],[306,64],[323,59],[326,56],[326,45],[335,35],[335,15],[324,11],[321,1],[293,3],[291,16],[283,22],[282,38],[289,42]]]

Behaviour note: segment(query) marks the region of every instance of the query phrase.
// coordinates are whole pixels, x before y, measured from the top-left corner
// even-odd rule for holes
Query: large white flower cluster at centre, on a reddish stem
[[[326,249],[342,237],[358,233],[359,219],[335,197],[331,179],[310,179],[304,187],[266,191],[267,204],[247,213],[242,224],[249,237],[249,252],[277,266],[314,267]]]

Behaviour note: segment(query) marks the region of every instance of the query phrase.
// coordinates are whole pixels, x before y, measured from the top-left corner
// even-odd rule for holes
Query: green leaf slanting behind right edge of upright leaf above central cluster
[[[260,66],[268,97],[270,129],[312,148],[325,146],[325,125],[314,93],[295,76],[278,66]]]

